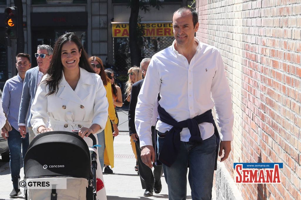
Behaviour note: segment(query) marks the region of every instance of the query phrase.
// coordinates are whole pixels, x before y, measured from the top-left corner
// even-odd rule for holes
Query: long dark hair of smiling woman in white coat
[[[50,66],[46,71],[48,77],[44,80],[46,86],[49,87],[49,92],[47,93],[47,96],[58,92],[58,86],[63,78],[63,64],[61,61],[61,51],[64,43],[68,41],[74,42],[78,47],[79,52],[80,50],[82,50],[81,56],[79,58],[79,67],[82,67],[88,72],[95,73],[90,63],[88,62],[88,55],[85,52],[85,49],[83,48],[82,43],[79,41],[78,37],[74,33],[66,33],[59,37],[56,43],[54,44]]]

